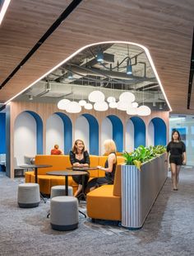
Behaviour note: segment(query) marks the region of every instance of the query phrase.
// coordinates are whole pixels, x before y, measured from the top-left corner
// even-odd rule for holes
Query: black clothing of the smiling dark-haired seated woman
[[[69,152],[69,158],[71,164],[79,163],[79,164],[88,164],[90,165],[90,156],[88,152],[85,150],[83,153],[84,157],[83,159],[76,159],[76,154],[72,152],[72,150]],[[87,186],[88,180],[89,180],[89,173],[87,175],[84,175],[84,184],[82,184],[82,175],[76,175],[72,176],[72,179],[74,180],[75,183],[83,185],[83,190],[85,190],[85,187]]]

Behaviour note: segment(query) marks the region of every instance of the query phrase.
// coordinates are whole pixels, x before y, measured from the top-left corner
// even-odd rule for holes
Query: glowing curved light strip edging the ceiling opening
[[[50,69],[47,73],[44,73],[44,75],[42,75],[39,79],[35,80],[35,82],[30,83],[30,85],[28,87],[26,87],[25,89],[23,89],[21,92],[17,93],[14,97],[11,97],[7,102],[5,102],[4,104],[7,104],[8,102],[11,102],[15,97],[19,96],[22,92],[25,92],[28,88],[32,87],[35,83],[38,83],[39,80],[41,80],[42,78],[46,77],[49,73],[52,73],[53,70],[58,69],[58,67],[60,67],[62,64],[66,63],[69,59],[72,59],[75,55],[79,54],[82,50],[85,50],[86,48],[90,47],[90,46],[95,46],[95,45],[103,45],[103,44],[127,44],[127,45],[136,45],[141,47],[145,53],[146,56],[148,58],[148,60],[150,61],[150,65],[151,68],[153,69],[154,73],[155,73],[155,78],[157,79],[158,83],[159,83],[159,88],[161,88],[161,91],[164,94],[164,98],[168,104],[169,107],[169,111],[172,111],[172,108],[170,107],[168,98],[166,97],[166,93],[164,92],[164,88],[162,86],[162,83],[159,79],[159,75],[155,69],[155,64],[153,62],[153,60],[151,59],[150,56],[150,51],[146,48],[146,46],[144,45],[139,45],[136,43],[132,43],[132,42],[127,42],[127,41],[103,41],[103,42],[99,42],[99,43],[95,43],[95,44],[90,44],[90,45],[85,45],[84,47],[81,47],[81,49],[76,50],[74,54],[70,55],[67,59],[62,60],[62,62],[60,62],[58,65],[56,65],[55,67],[53,67],[53,69]],[[3,103],[2,103],[3,104]]]

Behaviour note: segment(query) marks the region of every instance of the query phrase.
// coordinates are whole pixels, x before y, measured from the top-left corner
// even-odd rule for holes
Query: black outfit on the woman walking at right
[[[184,142],[178,141],[173,142],[170,141],[167,145],[167,152],[170,152],[169,156],[169,163],[170,164],[176,164],[176,165],[182,165],[182,154],[186,152],[186,147]]]

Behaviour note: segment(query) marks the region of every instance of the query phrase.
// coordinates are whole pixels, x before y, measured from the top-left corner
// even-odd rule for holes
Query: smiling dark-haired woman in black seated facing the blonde
[[[85,150],[85,145],[82,140],[76,140],[72,150],[69,153],[70,162],[74,167],[86,167],[90,165],[90,156]],[[72,176],[72,179],[78,184],[77,191],[74,194],[74,197],[77,197],[82,192],[82,186],[84,186],[83,190],[87,186],[89,180],[89,174],[84,175],[84,184],[82,184],[82,175]]]

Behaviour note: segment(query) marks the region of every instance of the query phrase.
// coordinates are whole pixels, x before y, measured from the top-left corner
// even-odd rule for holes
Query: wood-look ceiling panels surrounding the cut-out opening
[[[0,27],[0,83],[12,73],[71,1],[12,1]],[[83,0],[0,90],[0,102],[85,45],[123,40],[150,50],[173,112],[187,110],[193,0]]]

